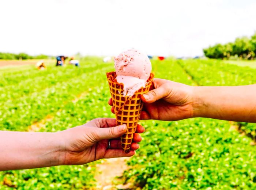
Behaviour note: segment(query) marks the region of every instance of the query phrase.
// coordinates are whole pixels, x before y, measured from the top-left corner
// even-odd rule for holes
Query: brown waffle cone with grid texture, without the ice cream
[[[143,102],[140,99],[141,94],[149,91],[152,84],[154,73],[150,74],[145,88],[140,88],[132,96],[124,96],[124,85],[119,84],[116,80],[116,72],[106,73],[109,83],[110,94],[113,100],[114,112],[116,115],[117,125],[127,125],[127,131],[121,137],[123,150],[128,153],[132,144],[133,134],[136,131],[137,123],[140,118],[140,113],[143,107]]]

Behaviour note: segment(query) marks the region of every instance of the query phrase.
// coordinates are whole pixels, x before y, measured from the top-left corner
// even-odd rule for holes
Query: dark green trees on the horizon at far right
[[[240,58],[253,60],[256,55],[256,33],[248,37],[236,38],[234,42],[218,43],[203,49],[204,55],[215,59]]]

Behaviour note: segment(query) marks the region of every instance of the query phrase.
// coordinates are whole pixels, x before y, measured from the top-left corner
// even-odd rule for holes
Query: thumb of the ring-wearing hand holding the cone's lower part
[[[124,124],[110,128],[95,128],[95,130],[95,133],[97,133],[97,135],[95,135],[95,140],[100,141],[122,136],[126,132],[127,126]]]

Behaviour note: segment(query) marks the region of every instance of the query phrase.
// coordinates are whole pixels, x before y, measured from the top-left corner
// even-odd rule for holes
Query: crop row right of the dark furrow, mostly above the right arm
[[[200,86],[239,86],[256,84],[256,69],[226,64],[220,60],[179,60],[180,64]],[[256,124],[238,123],[256,142]]]

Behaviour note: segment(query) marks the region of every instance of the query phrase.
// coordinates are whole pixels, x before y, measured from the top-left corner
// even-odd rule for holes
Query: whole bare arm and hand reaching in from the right
[[[256,84],[193,87],[165,79],[154,79],[153,84],[154,89],[141,96],[144,107],[140,119],[207,117],[256,123]],[[109,104],[113,105],[111,99]]]

